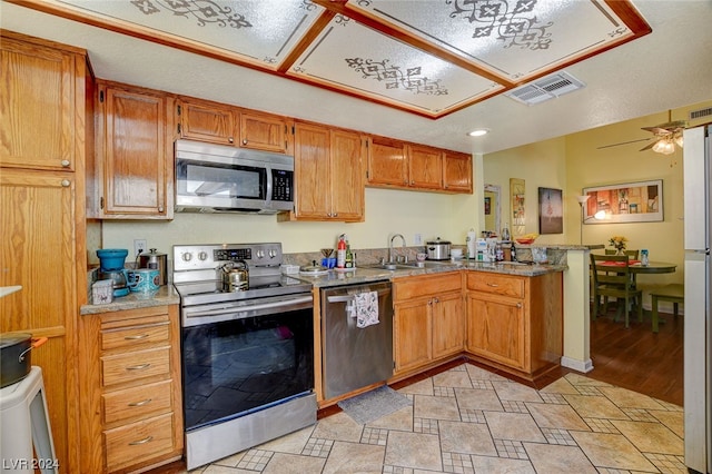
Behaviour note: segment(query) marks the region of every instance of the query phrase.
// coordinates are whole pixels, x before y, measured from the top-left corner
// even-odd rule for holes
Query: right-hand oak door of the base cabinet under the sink
[[[433,305],[433,357],[457,354],[465,346],[465,312],[459,293],[437,296]]]

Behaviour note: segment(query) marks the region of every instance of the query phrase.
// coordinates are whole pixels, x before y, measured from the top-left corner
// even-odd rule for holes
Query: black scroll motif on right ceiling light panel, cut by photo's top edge
[[[541,23],[531,14],[537,0],[518,0],[511,6],[506,0],[445,0],[455,11],[451,18],[465,17],[475,24],[473,38],[488,38],[496,34],[504,48],[548,49],[552,34],[546,31],[553,21]]]

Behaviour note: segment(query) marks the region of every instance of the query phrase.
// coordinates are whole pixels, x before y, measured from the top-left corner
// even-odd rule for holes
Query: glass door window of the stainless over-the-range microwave
[[[179,159],[176,175],[177,194],[182,197],[217,201],[267,199],[266,168]]]

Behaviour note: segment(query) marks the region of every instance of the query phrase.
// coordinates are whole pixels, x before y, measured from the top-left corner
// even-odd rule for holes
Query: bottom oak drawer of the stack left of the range
[[[107,470],[116,471],[156,457],[174,447],[174,415],[165,415],[131,423],[103,432],[107,446]]]

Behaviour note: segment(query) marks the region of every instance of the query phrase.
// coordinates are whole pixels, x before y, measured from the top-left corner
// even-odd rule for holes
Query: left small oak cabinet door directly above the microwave
[[[233,108],[186,100],[178,107],[181,138],[220,145],[234,145],[238,141]]]

